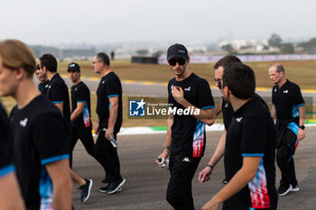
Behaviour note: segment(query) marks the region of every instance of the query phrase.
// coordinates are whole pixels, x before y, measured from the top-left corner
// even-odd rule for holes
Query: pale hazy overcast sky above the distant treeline
[[[316,37],[314,0],[5,0],[0,40],[28,44]]]

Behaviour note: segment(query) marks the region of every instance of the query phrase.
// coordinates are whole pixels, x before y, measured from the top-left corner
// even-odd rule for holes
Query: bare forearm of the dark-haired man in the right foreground
[[[229,197],[234,196],[256,176],[257,169],[262,157],[244,157],[243,166],[231,178],[228,184],[218,194],[213,196],[209,202],[202,207],[202,210],[218,210],[219,205]]]

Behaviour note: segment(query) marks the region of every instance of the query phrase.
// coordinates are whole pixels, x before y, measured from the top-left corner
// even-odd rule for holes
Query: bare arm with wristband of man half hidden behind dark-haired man
[[[212,157],[209,160],[209,163],[208,163],[209,166],[215,167],[218,161],[224,156],[226,134],[227,132],[225,129],[223,134],[220,136],[216,150],[214,151]],[[204,182],[209,181],[210,174],[213,171],[213,168],[209,166],[205,167],[203,170],[200,171],[200,174],[199,174],[200,184],[204,184]]]

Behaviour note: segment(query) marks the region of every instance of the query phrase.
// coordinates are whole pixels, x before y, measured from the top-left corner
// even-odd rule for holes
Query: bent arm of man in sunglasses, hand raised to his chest
[[[194,105],[191,105],[185,98],[184,93],[181,87],[173,87],[172,88],[172,96],[173,98],[184,108],[188,108],[189,106],[194,107],[194,109],[200,109]],[[212,125],[215,122],[215,111],[214,108],[208,108],[208,109],[200,109],[199,115],[192,115],[196,119],[200,120],[202,123],[206,123],[208,125]]]

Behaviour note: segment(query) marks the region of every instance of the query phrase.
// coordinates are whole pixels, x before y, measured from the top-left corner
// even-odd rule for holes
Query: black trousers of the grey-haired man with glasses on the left
[[[116,139],[116,134],[114,136]],[[95,145],[95,156],[107,173],[109,181],[120,180],[120,163],[116,148],[105,137],[105,132],[98,133],[98,139]]]

